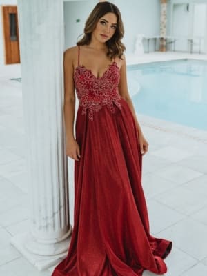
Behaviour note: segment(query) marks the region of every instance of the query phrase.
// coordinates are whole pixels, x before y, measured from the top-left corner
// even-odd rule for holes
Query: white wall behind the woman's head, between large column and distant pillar
[[[127,52],[133,52],[136,34],[146,36],[159,34],[159,0],[111,0],[118,6],[124,21],[124,43]],[[74,46],[83,32],[85,21],[98,1],[67,1],[64,3],[66,48]],[[81,19],[76,23],[76,19]]]

